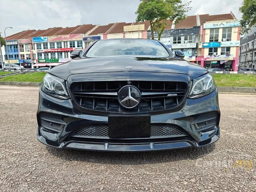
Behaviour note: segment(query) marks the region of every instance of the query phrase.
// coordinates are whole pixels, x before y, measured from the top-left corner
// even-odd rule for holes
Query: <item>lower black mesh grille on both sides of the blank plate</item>
[[[150,138],[182,136],[188,136],[188,133],[177,125],[164,123],[151,124]],[[71,134],[71,137],[108,138],[108,124],[88,124],[81,126]]]

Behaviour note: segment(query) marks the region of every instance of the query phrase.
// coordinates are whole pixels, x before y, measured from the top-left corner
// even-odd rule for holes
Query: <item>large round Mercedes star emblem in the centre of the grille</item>
[[[118,101],[125,108],[134,108],[141,101],[141,92],[134,86],[126,85],[119,90]]]

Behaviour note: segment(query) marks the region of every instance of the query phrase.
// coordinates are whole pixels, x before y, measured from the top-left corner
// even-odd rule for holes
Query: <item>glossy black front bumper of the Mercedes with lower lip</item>
[[[63,116],[63,126],[59,132],[47,132],[40,125],[39,114],[42,112]],[[214,112],[218,114],[215,126],[209,130],[200,131],[195,126],[196,116]],[[95,151],[154,151],[180,149],[188,147],[202,147],[216,142],[220,137],[217,89],[199,99],[187,99],[179,111],[164,114],[152,114],[151,124],[174,124],[185,130],[188,135],[182,137],[163,138],[73,138],[71,137],[77,127],[84,124],[107,124],[107,115],[85,114],[77,111],[71,100],[53,98],[39,90],[38,130],[37,138],[45,145],[55,148],[83,149]],[[56,120],[56,122],[58,122]]]

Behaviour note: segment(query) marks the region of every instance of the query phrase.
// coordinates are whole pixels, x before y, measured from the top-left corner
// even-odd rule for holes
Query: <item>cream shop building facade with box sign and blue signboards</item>
[[[220,68],[223,71],[238,70],[240,46],[238,20],[205,22],[202,30],[201,65],[205,68]]]

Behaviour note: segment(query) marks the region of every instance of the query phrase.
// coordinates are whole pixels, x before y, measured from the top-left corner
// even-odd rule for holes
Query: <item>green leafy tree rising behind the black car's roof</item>
[[[182,0],[141,0],[137,14],[137,22],[149,21],[152,39],[154,31],[158,32],[158,40],[170,19],[177,24],[186,18],[186,13],[191,10],[191,1],[182,3]]]

